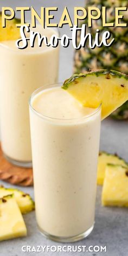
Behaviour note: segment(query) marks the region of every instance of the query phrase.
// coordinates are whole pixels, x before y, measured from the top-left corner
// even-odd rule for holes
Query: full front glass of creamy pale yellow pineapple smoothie
[[[36,219],[54,240],[79,240],[93,229],[100,114],[60,86],[31,96]]]

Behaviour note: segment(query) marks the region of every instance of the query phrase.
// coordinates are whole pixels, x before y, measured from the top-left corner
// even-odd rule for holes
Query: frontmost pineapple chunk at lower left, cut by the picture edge
[[[27,235],[27,228],[14,195],[0,199],[0,227],[0,241]]]

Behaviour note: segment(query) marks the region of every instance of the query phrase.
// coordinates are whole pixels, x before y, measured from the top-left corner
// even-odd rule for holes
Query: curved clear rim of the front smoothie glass
[[[46,116],[45,114],[42,114],[40,112],[38,112],[37,110],[35,110],[35,108],[32,106],[32,100],[34,99],[34,97],[44,91],[45,89],[48,89],[48,88],[55,88],[55,87],[61,87],[62,86],[62,82],[56,82],[54,84],[49,84],[49,85],[43,85],[39,88],[37,88],[30,96],[29,98],[29,107],[30,107],[30,110],[32,112],[34,112],[36,114],[36,116],[39,116],[40,118],[42,119],[46,119],[46,120],[51,120],[51,121],[65,121],[65,122],[69,122],[69,121],[81,121],[81,120],[87,120],[93,116],[95,116],[95,114],[97,114],[100,110],[101,110],[101,103],[100,105],[97,107],[97,108],[94,108],[94,112],[92,112],[91,114],[87,114],[86,116],[83,116],[83,117],[79,117],[79,118],[54,118],[54,117],[50,117],[50,116]]]

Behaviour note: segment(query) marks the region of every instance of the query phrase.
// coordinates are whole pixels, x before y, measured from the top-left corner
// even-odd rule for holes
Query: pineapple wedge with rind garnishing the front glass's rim
[[[97,108],[102,104],[104,119],[128,100],[128,75],[99,69],[71,76],[62,88],[86,107]]]

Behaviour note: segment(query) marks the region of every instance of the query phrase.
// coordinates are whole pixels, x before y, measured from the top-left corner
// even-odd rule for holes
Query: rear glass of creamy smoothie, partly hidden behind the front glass
[[[35,28],[48,40],[57,32]],[[18,49],[15,41],[0,43],[1,142],[5,156],[19,165],[31,164],[28,100],[42,85],[57,81],[59,47]]]

